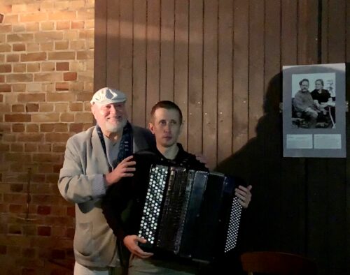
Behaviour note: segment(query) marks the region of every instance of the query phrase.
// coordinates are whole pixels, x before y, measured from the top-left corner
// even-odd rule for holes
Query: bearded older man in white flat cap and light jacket
[[[116,236],[102,214],[101,199],[109,186],[132,177],[131,155],[154,146],[149,131],[127,121],[126,99],[116,89],[97,91],[91,101],[97,125],[66,142],[58,187],[66,200],[76,204],[75,275],[122,272]]]

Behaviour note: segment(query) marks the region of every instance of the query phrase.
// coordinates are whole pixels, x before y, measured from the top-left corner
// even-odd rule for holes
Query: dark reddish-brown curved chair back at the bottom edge
[[[244,272],[280,275],[314,275],[316,264],[301,255],[275,251],[246,252],[241,255]]]

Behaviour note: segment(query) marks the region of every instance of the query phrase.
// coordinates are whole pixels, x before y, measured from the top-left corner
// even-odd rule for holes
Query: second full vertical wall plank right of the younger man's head
[[[209,168],[216,165],[218,103],[218,2],[204,1],[203,154]]]

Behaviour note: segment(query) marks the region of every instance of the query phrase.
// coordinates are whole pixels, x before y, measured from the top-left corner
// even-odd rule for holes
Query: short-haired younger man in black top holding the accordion
[[[160,101],[151,111],[151,132],[155,135],[156,148],[151,151],[140,151],[134,154],[136,172],[134,177],[124,178],[120,184],[109,188],[104,198],[102,208],[106,220],[123,244],[132,253],[130,257],[129,274],[193,274],[195,267],[179,265],[176,262],[160,260],[151,257],[139,247],[139,242],[146,239],[137,236],[141,211],[144,205],[148,174],[153,163],[162,165],[176,165],[193,170],[207,170],[203,163],[195,156],[183,150],[177,143],[182,128],[182,113],[172,101]],[[248,207],[251,200],[251,186],[239,186],[236,195],[243,207]],[[131,207],[130,207],[131,204]],[[126,218],[122,212],[130,207]]]

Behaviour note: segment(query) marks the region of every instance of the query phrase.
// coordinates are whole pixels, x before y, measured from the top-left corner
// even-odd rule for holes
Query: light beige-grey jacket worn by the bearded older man
[[[154,140],[149,131],[132,128],[134,152],[152,146]],[[103,182],[102,175],[108,172],[108,161],[95,127],[69,138],[58,188],[66,200],[76,204],[74,255],[80,265],[87,267],[118,266],[116,236],[101,209],[106,186],[96,184]]]

